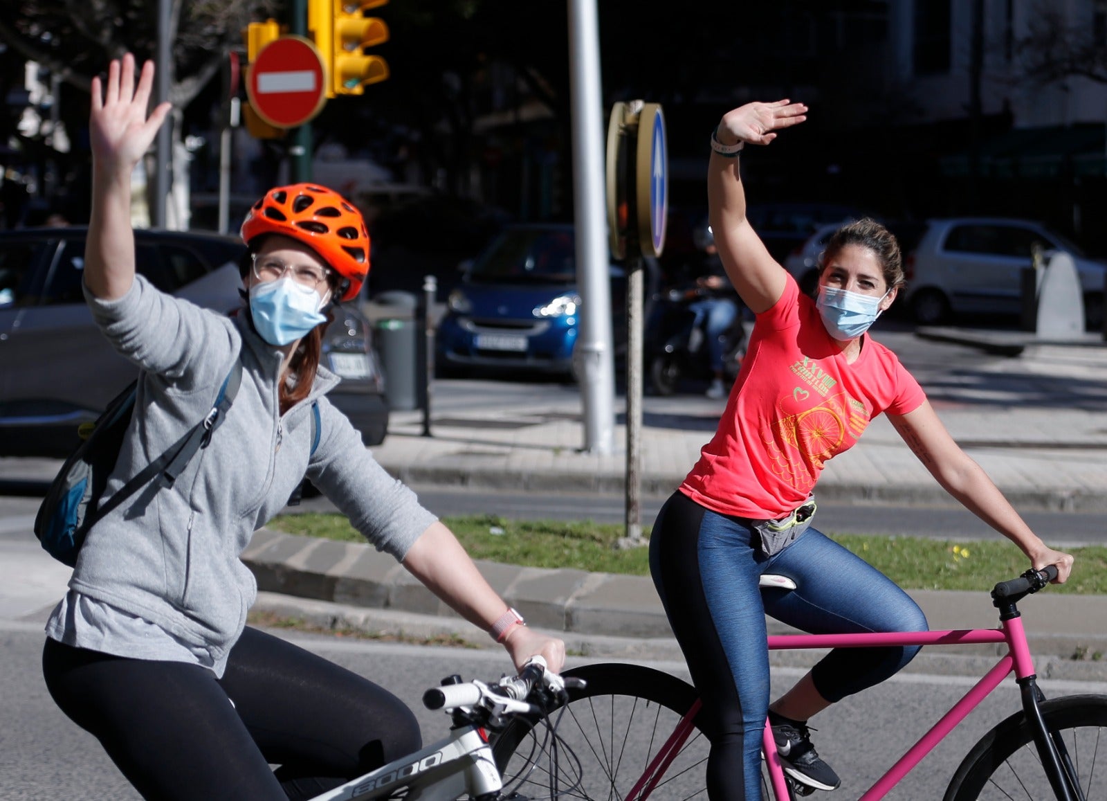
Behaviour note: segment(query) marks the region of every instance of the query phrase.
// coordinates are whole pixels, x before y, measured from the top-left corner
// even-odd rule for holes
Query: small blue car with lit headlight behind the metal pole
[[[625,327],[623,273],[611,267],[614,336]],[[459,368],[572,374],[580,322],[571,225],[506,228],[466,269],[438,325],[437,360]]]

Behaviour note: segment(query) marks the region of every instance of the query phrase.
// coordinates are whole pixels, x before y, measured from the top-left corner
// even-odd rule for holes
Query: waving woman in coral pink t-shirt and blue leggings
[[[824,463],[850,448],[877,414],[888,414],[938,482],[1034,567],[1056,565],[1064,582],[1073,565],[958,446],[896,355],[866,335],[904,280],[896,238],[871,219],[840,228],[811,300],[751,227],[739,153],[767,145],[806,112],[787,100],[748,103],[724,114],[712,133],[711,225],[726,274],[757,319],[718,429],[662,507],[650,540],[654,584],[704,700],[712,801],[759,798],[766,713],[785,771],[810,788],[838,787],[811,746],[807,720],[888,678],[918,651],[832,650],[768,704],[766,613],[813,633],[927,627],[907,593],[810,525]],[[762,593],[764,573],[788,576],[798,588]]]

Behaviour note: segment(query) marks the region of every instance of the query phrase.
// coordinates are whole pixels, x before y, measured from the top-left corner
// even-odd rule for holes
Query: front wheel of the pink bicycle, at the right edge
[[[1107,696],[1067,696],[1041,705],[1080,801],[1107,799]],[[977,742],[953,774],[945,801],[1044,801],[1049,787],[1031,728],[1012,715]]]

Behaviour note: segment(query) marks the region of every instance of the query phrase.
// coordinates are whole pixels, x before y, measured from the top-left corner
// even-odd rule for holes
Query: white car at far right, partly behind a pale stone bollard
[[[1032,266],[1032,248],[1067,251],[1084,290],[1089,330],[1103,327],[1107,264],[1043,223],[1010,217],[950,217],[928,220],[927,232],[908,257],[906,300],[917,322],[938,325],[973,314],[1017,316],[1022,311],[1022,271]]]

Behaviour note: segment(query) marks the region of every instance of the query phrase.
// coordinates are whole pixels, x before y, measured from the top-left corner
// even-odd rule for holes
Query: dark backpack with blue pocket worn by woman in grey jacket
[[[127,384],[91,427],[81,427],[79,433],[82,442],[69,455],[50,484],[34,518],[34,534],[42,547],[55,559],[72,567],[76,564],[76,554],[84,544],[85,534],[97,520],[151,481],[157,480],[163,486],[173,486],[173,482],[196,452],[207,445],[211,434],[223,423],[241,380],[242,364],[236,359],[219,389],[215,405],[204,415],[204,420],[178,444],[170,446],[124,484],[107,503],[101,505],[100,499],[107,484],[107,476],[115,469],[123,435],[134,413],[138,381]]]

